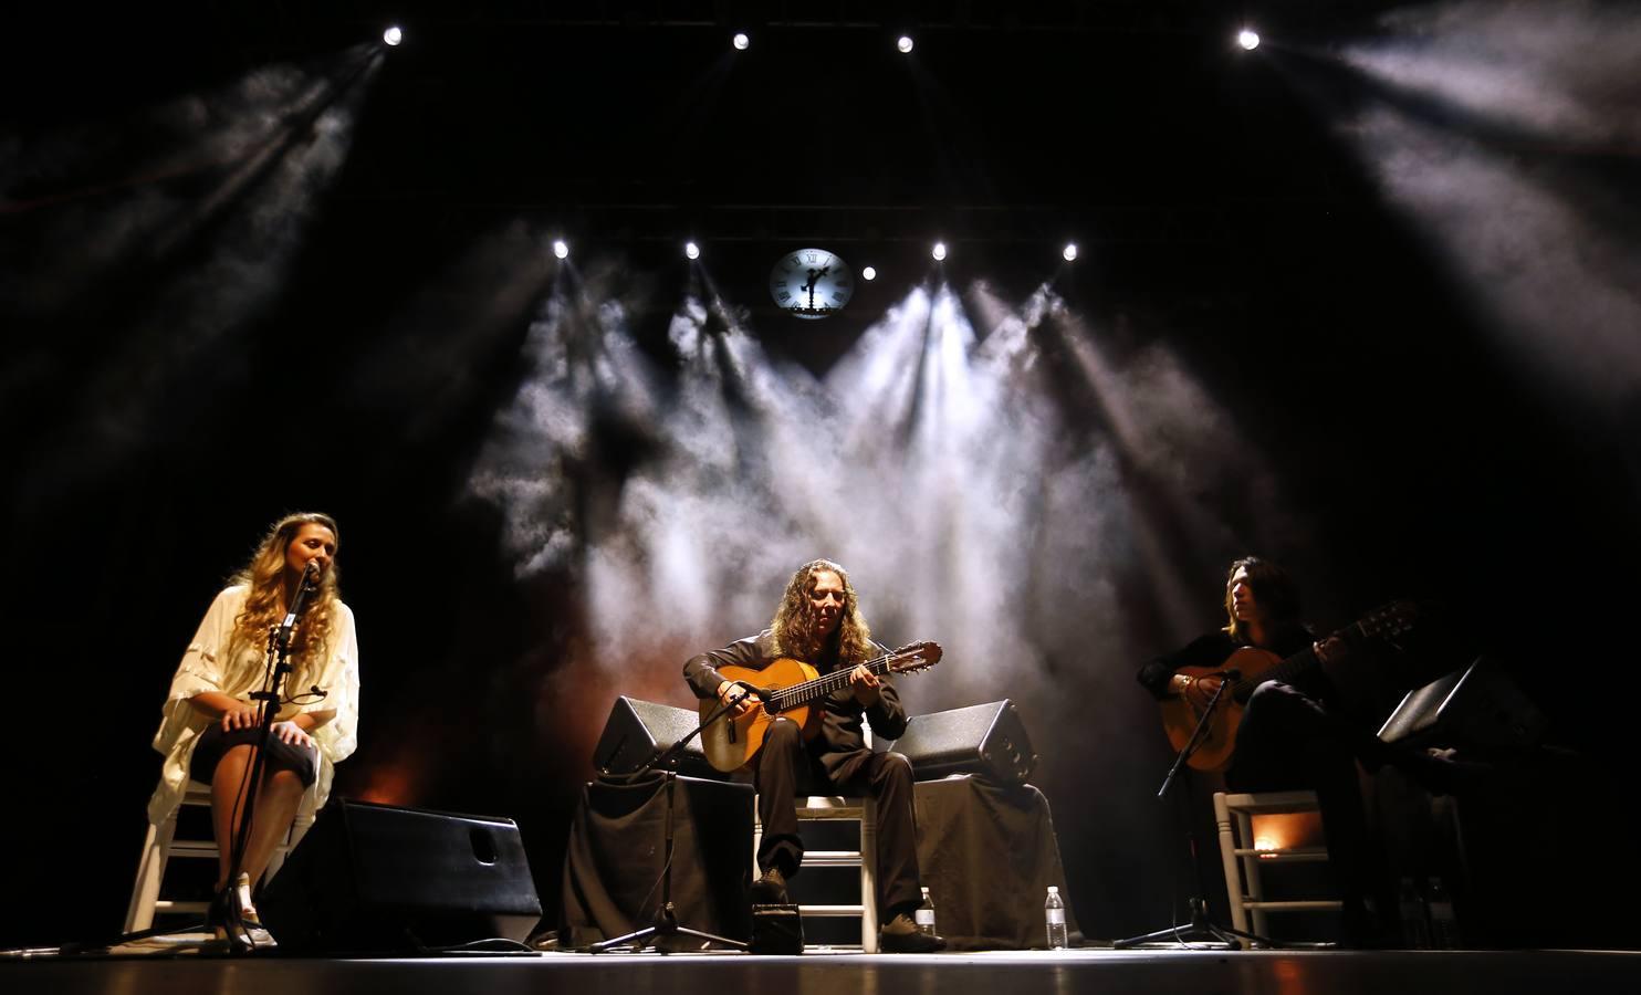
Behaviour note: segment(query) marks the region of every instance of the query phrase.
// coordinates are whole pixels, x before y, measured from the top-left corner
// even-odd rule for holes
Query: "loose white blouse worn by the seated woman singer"
[[[194,747],[199,745],[200,734],[218,721],[189,704],[189,699],[202,691],[220,691],[230,698],[251,701],[251,693],[263,686],[266,645],[248,645],[240,649],[235,658],[226,657],[233,621],[245,611],[245,599],[249,593],[249,586],[235,585],[217,594],[199,632],[194,634],[194,642],[182,653],[177,673],[171,678],[166,718],[159,722],[159,732],[154,734],[154,749],[164,754],[166,763],[159,786],[148,800],[151,823],[158,824],[167,819],[182,801]],[[320,752],[313,782],[315,809],[325,805],[330,796],[333,765],[345,760],[359,745],[359,640],[353,627],[353,609],[340,601],[331,617],[327,644],[325,665],[318,676],[309,681],[310,685],[317,683],[327,693],[325,698],[307,704],[286,704],[279,709],[281,719],[305,711],[336,709],[336,718],[310,732]],[[289,681],[290,675],[286,676],[282,688],[286,698],[310,691],[309,688],[294,688]]]

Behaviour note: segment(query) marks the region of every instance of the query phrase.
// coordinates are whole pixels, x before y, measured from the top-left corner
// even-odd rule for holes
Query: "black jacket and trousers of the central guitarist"
[[[717,698],[717,688],[725,680],[719,667],[763,670],[778,658],[773,644],[771,632],[765,629],[722,650],[691,657],[684,663],[684,680],[697,698]],[[816,668],[827,673],[839,663],[822,662]],[[798,873],[804,857],[793,798],[825,793],[871,795],[878,800],[876,901],[880,919],[888,921],[898,911],[917,908],[922,892],[917,883],[911,763],[899,754],[873,754],[862,729],[865,716],[875,736],[899,739],[906,732],[906,709],[894,685],[886,676],[878,681],[878,701],[870,708],[862,706],[850,688],[822,699],[820,731],[809,742],[804,742],[796,722],[776,719],[750,767],[763,823],[758,867],[779,867],[786,877]]]

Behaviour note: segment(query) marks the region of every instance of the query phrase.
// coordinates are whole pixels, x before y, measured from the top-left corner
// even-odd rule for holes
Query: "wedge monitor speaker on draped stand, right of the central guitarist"
[[[1004,785],[1024,785],[1037,767],[1019,709],[1006,698],[912,716],[889,749],[912,762],[912,777],[921,782],[983,773]]]

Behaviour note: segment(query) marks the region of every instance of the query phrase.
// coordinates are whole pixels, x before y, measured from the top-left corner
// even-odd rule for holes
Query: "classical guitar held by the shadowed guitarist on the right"
[[[1418,609],[1408,601],[1393,601],[1367,616],[1334,632],[1344,639],[1388,639],[1406,632],[1413,626]],[[1316,652],[1301,650],[1287,660],[1270,650],[1259,647],[1242,647],[1231,653],[1219,667],[1182,667],[1177,673],[1191,678],[1219,676],[1227,670],[1241,672],[1214,706],[1208,729],[1201,744],[1191,754],[1188,763],[1193,770],[1224,770],[1231,765],[1236,752],[1236,729],[1242,722],[1242,708],[1252,698],[1254,688],[1265,681],[1291,681],[1318,665]],[[1168,742],[1175,750],[1185,749],[1196,721],[1201,719],[1201,708],[1193,704],[1185,695],[1162,699],[1162,727],[1168,732]]]

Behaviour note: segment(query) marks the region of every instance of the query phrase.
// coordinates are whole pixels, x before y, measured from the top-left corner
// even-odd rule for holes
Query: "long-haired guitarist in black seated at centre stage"
[[[722,650],[691,657],[684,680],[697,698],[734,704],[737,714],[758,704],[745,686],[725,680],[720,667],[763,670],[775,660],[811,663],[822,675],[852,668],[848,686],[822,699],[819,731],[804,739],[798,722],[778,718],[748,762],[758,788],[763,842],[753,887],[755,905],[786,905],[786,880],[798,873],[804,846],[798,837],[793,798],[798,795],[871,795],[878,800],[878,946],[886,952],[932,952],[939,936],[917,931],[912,913],[922,901],[917,882],[917,828],[912,821],[912,770],[899,754],[873,754],[862,734],[862,716],[873,734],[898,739],[906,709],[888,676],[876,676],[866,660],[884,652],[871,640],[848,573],[830,560],[804,563],[786,585],[770,627]],[[747,681],[752,683],[752,681]],[[755,685],[757,686],[757,685]],[[871,898],[862,896],[862,901]]]

